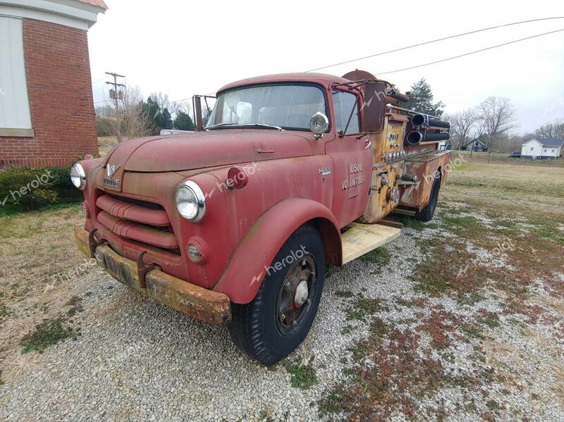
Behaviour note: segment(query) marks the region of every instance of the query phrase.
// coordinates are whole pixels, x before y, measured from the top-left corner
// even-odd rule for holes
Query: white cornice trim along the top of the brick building
[[[0,1],[0,15],[57,23],[87,31],[96,23],[103,8],[78,0],[6,0]]]

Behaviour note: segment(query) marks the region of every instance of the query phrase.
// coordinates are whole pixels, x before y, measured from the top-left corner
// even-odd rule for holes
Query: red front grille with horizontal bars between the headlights
[[[106,193],[96,206],[98,223],[115,235],[180,254],[171,222],[159,204]]]

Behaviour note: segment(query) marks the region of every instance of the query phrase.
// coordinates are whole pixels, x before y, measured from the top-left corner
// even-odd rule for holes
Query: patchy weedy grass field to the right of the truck
[[[531,405],[556,397],[564,409],[564,169],[469,159],[448,175],[434,221],[404,223],[423,254],[406,259],[412,292],[350,304],[350,315],[372,315],[369,335],[350,349],[348,375],[320,415],[442,420],[448,406],[421,404],[452,389],[457,412],[486,421],[527,420],[508,412],[513,394]]]

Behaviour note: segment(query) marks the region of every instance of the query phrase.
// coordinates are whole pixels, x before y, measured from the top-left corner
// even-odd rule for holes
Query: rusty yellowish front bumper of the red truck
[[[88,258],[96,258],[99,266],[124,285],[200,321],[216,324],[231,321],[231,301],[226,294],[190,284],[158,269],[147,272],[145,280],[140,280],[137,263],[116,254],[111,247],[103,244],[92,247],[95,251],[92,256],[88,235],[82,228],[75,229],[78,249]]]

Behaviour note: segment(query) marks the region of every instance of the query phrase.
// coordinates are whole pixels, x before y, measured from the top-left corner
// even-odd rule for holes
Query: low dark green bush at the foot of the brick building
[[[71,183],[70,168],[11,167],[0,171],[0,208],[14,205],[29,211],[80,197],[82,192]]]

